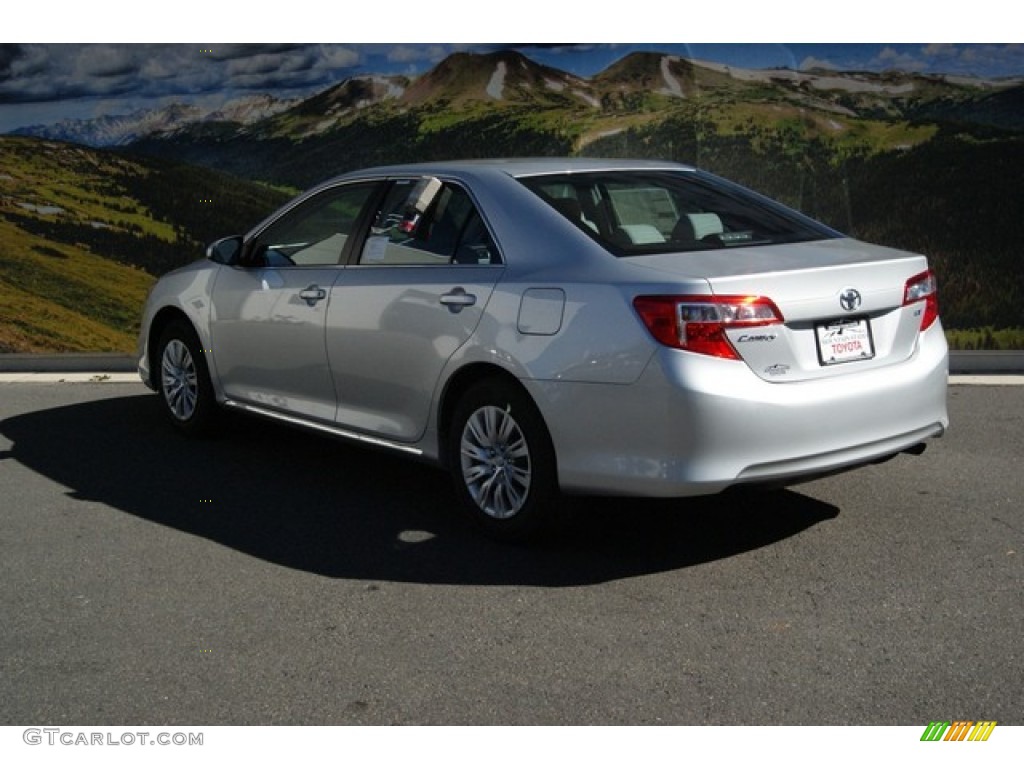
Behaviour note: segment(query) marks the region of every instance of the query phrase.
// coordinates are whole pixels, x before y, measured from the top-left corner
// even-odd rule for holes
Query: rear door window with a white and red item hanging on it
[[[359,263],[500,264],[501,258],[468,193],[425,178],[393,182],[370,227]]]

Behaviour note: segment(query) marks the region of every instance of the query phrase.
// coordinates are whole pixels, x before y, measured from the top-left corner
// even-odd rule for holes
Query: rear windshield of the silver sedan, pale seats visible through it
[[[842,237],[710,174],[612,171],[519,181],[617,256]]]

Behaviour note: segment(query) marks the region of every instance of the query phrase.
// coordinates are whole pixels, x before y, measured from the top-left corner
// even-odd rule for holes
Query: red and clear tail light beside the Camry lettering
[[[638,296],[633,300],[650,335],[666,346],[739,359],[725,332],[782,322],[763,296]]]

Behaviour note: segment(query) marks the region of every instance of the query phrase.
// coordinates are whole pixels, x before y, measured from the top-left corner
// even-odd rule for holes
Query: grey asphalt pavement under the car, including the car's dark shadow
[[[1024,388],[949,406],[921,457],[507,547],[401,458],[0,384],[0,723],[1024,724]]]

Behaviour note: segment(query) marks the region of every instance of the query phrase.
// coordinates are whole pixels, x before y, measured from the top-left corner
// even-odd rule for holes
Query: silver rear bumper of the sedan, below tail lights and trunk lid
[[[552,433],[563,489],[714,494],[877,461],[947,425],[941,328],[901,364],[773,383],[742,362],[660,349],[628,386],[525,382]]]

